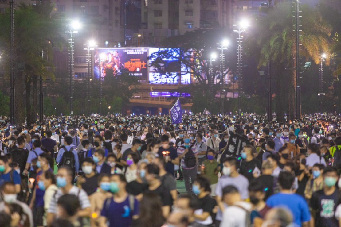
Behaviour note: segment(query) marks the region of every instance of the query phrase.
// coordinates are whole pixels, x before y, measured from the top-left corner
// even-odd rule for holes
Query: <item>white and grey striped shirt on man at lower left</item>
[[[77,196],[80,208],[82,210],[90,207],[88,194],[83,189],[72,186],[68,194]],[[58,189],[55,195],[51,198],[50,207],[47,210],[48,213],[57,213],[57,201],[62,195],[64,195],[64,193],[61,191],[61,189]]]

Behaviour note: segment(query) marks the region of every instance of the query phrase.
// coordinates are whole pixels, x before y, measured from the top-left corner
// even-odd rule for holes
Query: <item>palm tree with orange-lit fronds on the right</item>
[[[291,119],[295,116],[296,43],[292,9],[291,4],[283,3],[255,16],[256,26],[248,41],[254,45],[253,48],[256,47],[253,51],[259,51],[258,67],[266,66],[270,61],[275,68],[272,75],[276,77],[276,112],[279,119],[284,119],[285,111]],[[318,64],[321,53],[330,53],[328,37],[332,28],[316,8],[304,4],[301,9],[300,53]],[[329,64],[329,59],[326,64]]]

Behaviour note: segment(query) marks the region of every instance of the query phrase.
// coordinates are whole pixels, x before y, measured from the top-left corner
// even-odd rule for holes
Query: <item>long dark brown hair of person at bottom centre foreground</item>
[[[160,227],[165,223],[162,215],[162,202],[160,197],[152,192],[145,192],[139,205],[140,227]]]

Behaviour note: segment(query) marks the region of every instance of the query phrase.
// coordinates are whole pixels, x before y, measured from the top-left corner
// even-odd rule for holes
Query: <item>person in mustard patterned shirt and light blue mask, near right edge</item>
[[[304,196],[307,200],[309,200],[314,192],[320,191],[323,189],[323,171],[325,169],[324,165],[315,164],[312,168],[313,179],[309,180],[306,184],[306,188],[304,191]]]

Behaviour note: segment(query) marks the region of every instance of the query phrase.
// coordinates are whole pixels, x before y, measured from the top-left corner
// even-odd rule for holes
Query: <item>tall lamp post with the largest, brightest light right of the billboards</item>
[[[242,19],[238,24],[238,30],[233,30],[238,33],[238,48],[237,48],[237,73],[238,73],[238,113],[241,114],[241,76],[242,76],[242,36],[241,33],[245,31],[246,28],[250,26],[250,23],[246,19]]]

